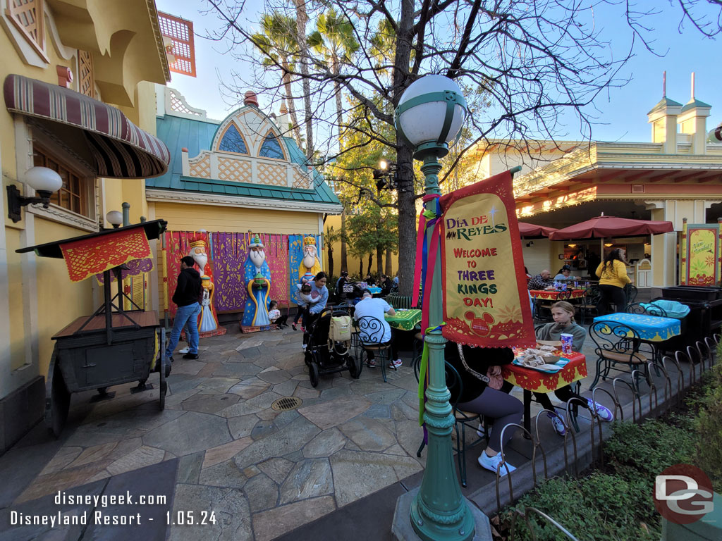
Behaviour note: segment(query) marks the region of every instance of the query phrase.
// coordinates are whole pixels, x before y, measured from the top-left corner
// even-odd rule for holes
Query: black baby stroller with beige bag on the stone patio
[[[349,306],[327,307],[306,328],[305,363],[313,387],[318,385],[318,376],[321,374],[334,374],[348,369],[354,379],[361,376],[362,366],[350,352],[350,339],[333,340],[329,335],[331,318],[349,315]]]

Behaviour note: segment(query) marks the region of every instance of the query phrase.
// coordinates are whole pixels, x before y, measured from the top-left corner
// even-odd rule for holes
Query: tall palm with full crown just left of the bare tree
[[[316,53],[321,54],[326,63],[330,64],[331,74],[341,72],[341,63],[350,62],[352,56],[359,50],[359,43],[354,37],[354,27],[347,17],[339,15],[336,10],[329,9],[316,20],[316,30],[308,36],[308,45]],[[334,81],[334,94],[336,94],[336,124],[339,126],[339,149],[343,147],[343,110],[341,86]],[[341,214],[341,270],[348,271],[346,247],[346,209]]]

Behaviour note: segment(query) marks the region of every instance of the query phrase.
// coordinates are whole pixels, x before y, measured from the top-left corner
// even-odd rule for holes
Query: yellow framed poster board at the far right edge
[[[722,279],[722,224],[682,224],[679,250],[682,286],[715,286]]]

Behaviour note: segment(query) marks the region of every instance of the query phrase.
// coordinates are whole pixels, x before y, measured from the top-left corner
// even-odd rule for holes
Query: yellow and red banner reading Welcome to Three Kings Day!
[[[444,337],[486,348],[536,343],[510,173],[440,204]]]

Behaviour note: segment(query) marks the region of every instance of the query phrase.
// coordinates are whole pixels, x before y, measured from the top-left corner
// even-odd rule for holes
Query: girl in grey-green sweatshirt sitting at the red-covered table
[[[572,335],[574,337],[572,339],[572,351],[581,351],[584,346],[584,340],[586,340],[586,330],[584,327],[575,322],[574,307],[566,301],[555,302],[552,304],[552,318],[554,319],[553,323],[547,323],[547,325],[542,325],[536,329],[536,339],[556,342],[561,340],[562,334]],[[554,395],[557,395],[557,398],[562,400],[563,403],[567,403],[570,398],[578,398],[579,400],[586,401],[590,410],[593,408],[591,400],[575,393],[572,390],[571,385],[560,387],[554,391]],[[547,393],[535,392],[534,396],[536,397],[536,401],[541,404],[542,408],[554,411],[552,400],[549,400],[549,395],[547,395]],[[599,403],[596,405],[596,413],[602,421],[609,422],[614,420],[612,412]],[[547,413],[547,415],[549,415],[549,418],[552,419],[554,431],[556,431],[560,436],[564,436],[566,434],[566,430],[564,428],[564,423],[562,423],[560,418],[556,415],[552,415],[551,413]]]

